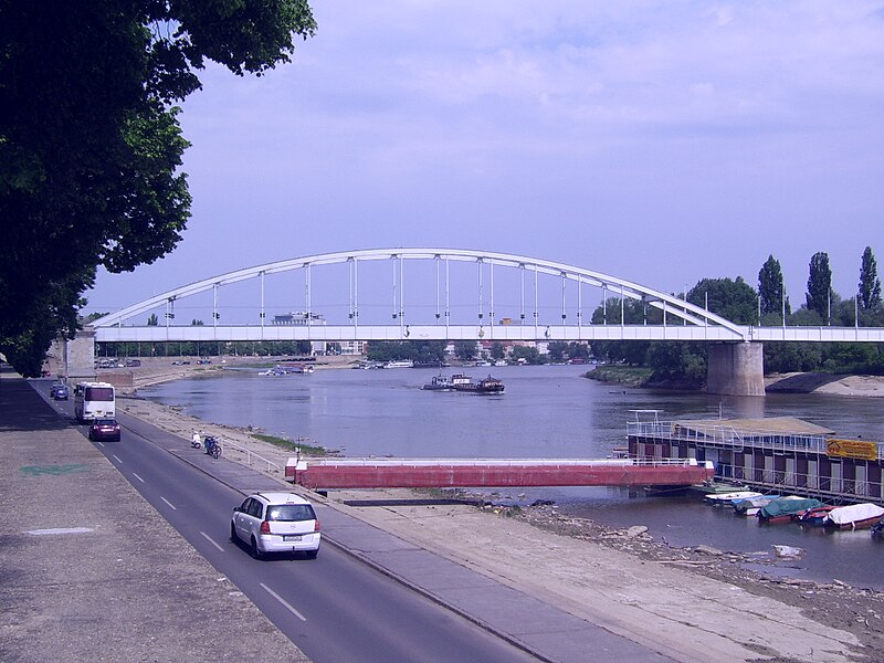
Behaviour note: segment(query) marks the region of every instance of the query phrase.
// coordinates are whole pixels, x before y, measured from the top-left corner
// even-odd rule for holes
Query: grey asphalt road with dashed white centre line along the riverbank
[[[56,404],[72,415],[72,403]],[[315,560],[251,558],[229,538],[231,509],[243,494],[177,457],[200,453],[186,449],[188,442],[172,452],[169,433],[127,415],[119,420],[120,442],[94,444],[314,662],[537,660],[330,545]]]

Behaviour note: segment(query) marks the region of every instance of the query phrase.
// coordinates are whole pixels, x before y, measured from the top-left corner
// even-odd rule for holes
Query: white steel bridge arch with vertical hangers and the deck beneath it
[[[360,326],[358,323],[358,265],[361,262],[367,261],[398,261],[398,269],[399,273],[402,273],[401,265],[403,261],[435,261],[436,265],[436,298],[440,295],[440,288],[442,287],[442,281],[440,276],[440,265],[445,265],[444,270],[444,288],[448,292],[449,283],[448,283],[448,263],[455,262],[455,263],[474,263],[478,265],[478,292],[480,292],[480,308],[482,307],[481,298],[482,294],[482,273],[483,269],[490,271],[491,274],[491,287],[490,287],[490,304],[491,308],[490,312],[492,313],[492,320],[491,324],[485,323],[485,325],[480,322],[478,324],[472,325],[461,325],[454,326],[449,325],[449,312],[445,311],[444,319],[440,319],[441,316],[439,312],[436,312],[436,325],[423,325],[419,328],[415,325],[407,325],[404,324],[402,317],[399,317],[398,324],[394,325],[387,325],[387,326]],[[325,265],[333,265],[337,263],[349,263],[350,269],[350,314],[349,318],[352,322],[350,325],[344,325],[340,327],[333,327],[333,326],[311,326],[309,325],[309,314],[311,314],[311,304],[309,304],[309,274],[314,267],[325,266]],[[535,306],[536,306],[536,298],[537,298],[537,277],[538,275],[543,275],[545,277],[551,276],[561,280],[562,283],[562,323],[557,325],[547,325],[547,324],[537,324],[537,313],[535,311],[535,323],[533,325],[515,325],[514,327],[519,328],[520,332],[517,334],[499,334],[497,330],[501,329],[501,326],[495,326],[493,324],[493,306],[494,306],[494,267],[505,267],[511,270],[518,270],[520,272],[520,280],[522,280],[522,287],[523,287],[523,306],[524,306],[524,281],[525,275],[529,275],[529,277],[534,278],[534,295],[535,295]],[[263,301],[263,293],[264,293],[264,277],[272,274],[280,274],[283,272],[290,272],[294,270],[305,270],[307,274],[307,301],[306,301],[306,309],[307,309],[307,325],[306,330],[305,328],[299,329],[290,329],[287,335],[281,335],[281,332],[276,329],[276,334],[266,334],[273,329],[272,326],[264,325],[264,301]],[[393,280],[396,280],[396,270],[393,267]],[[218,324],[218,318],[220,317],[218,314],[218,288],[231,285],[234,283],[239,283],[242,281],[251,280],[251,278],[259,278],[261,280],[261,312],[260,312],[260,320],[261,324],[259,325],[240,325],[239,327],[232,326],[220,326]],[[751,340],[750,338],[750,328],[737,325],[732,323],[728,319],[725,319],[718,315],[715,315],[708,311],[699,306],[695,306],[684,299],[680,299],[673,295],[665,294],[663,292],[656,291],[654,288],[648,287],[645,285],[641,285],[639,283],[634,283],[632,281],[628,281],[625,278],[620,278],[618,276],[612,276],[610,274],[604,274],[601,272],[597,272],[593,270],[588,270],[575,265],[569,265],[565,263],[547,261],[536,257],[529,257],[524,255],[514,255],[508,253],[493,253],[486,251],[474,251],[474,250],[463,250],[463,249],[368,249],[368,250],[359,250],[359,251],[348,251],[348,252],[338,252],[338,253],[320,253],[316,255],[306,255],[301,257],[294,257],[290,260],[283,260],[272,263],[266,263],[262,265],[256,265],[253,267],[248,267],[243,270],[236,270],[233,272],[229,272],[225,274],[220,274],[218,276],[212,276],[210,278],[203,278],[201,281],[197,281],[194,283],[183,285],[168,292],[161,293],[159,295],[152,296],[150,298],[144,299],[122,311],[116,313],[112,313],[104,317],[101,317],[92,323],[92,327],[96,330],[96,338],[98,340],[161,340],[161,339],[175,339],[175,340],[191,340],[191,339],[208,339],[208,338],[215,338],[219,340],[276,340],[282,339],[283,337],[286,339],[290,338],[313,338],[313,339],[326,339],[326,340],[349,340],[349,339],[392,339],[392,338],[408,338],[411,336],[412,338],[483,338],[485,337],[486,333],[483,327],[487,327],[488,330],[495,329],[493,336],[496,338],[504,338],[504,337],[512,337],[512,338],[557,338],[557,339],[572,339],[572,338],[654,338],[653,334],[649,334],[646,332],[646,326],[641,325],[623,325],[622,323],[622,315],[620,324],[608,324],[604,327],[608,328],[619,328],[621,332],[617,334],[604,334],[601,332],[597,333],[589,333],[590,329],[598,329],[602,327],[602,325],[583,325],[581,324],[581,314],[578,313],[578,323],[566,325],[565,324],[565,314],[564,314],[564,288],[565,283],[570,282],[577,284],[577,296],[578,296],[578,312],[580,311],[582,303],[581,303],[581,286],[591,286],[597,287],[602,291],[602,301],[607,301],[609,296],[615,297],[619,296],[621,302],[624,299],[633,299],[640,301],[645,303],[649,306],[657,308],[664,313],[664,327],[665,327],[665,319],[666,316],[674,316],[675,318],[680,319],[681,325],[670,325],[670,334],[664,336],[665,338],[683,338],[683,339],[709,339],[709,340],[729,340],[729,341],[747,341]],[[393,284],[393,290],[396,288],[396,284]],[[189,297],[192,295],[197,295],[199,293],[204,293],[207,291],[213,291],[214,293],[214,311],[213,311],[213,325],[207,326],[203,328],[188,328],[183,326],[175,326],[169,327],[168,319],[166,327],[152,327],[145,328],[138,326],[126,326],[124,323],[134,316],[144,314],[148,311],[155,309],[159,306],[169,306],[175,305],[176,301],[182,299],[185,297]],[[448,294],[446,294],[448,296]],[[400,295],[401,297],[401,295]],[[393,294],[393,298],[396,298],[396,294]],[[396,303],[394,303],[396,305]],[[399,306],[402,307],[402,301],[400,298]],[[167,318],[170,317],[167,315]],[[173,317],[173,316],[171,316]],[[393,315],[393,318],[397,318]],[[480,314],[480,319],[482,318],[482,314]],[[524,312],[523,312],[524,318]],[[538,333],[538,327],[540,328],[541,334]],[[123,329],[151,329],[150,334],[145,333],[143,336],[138,336],[135,338],[134,333],[126,334]],[[170,329],[177,330],[173,334],[170,333]],[[236,332],[239,329],[239,332]],[[441,333],[440,329],[444,329],[444,333]],[[583,329],[586,333],[576,333],[576,329]],[[632,334],[624,334],[622,329],[631,329]],[[643,332],[643,329],[645,329]],[[160,335],[160,330],[164,334]],[[260,333],[255,332],[260,330]],[[515,332],[515,329],[513,329]],[[490,334],[491,336],[491,334]]]

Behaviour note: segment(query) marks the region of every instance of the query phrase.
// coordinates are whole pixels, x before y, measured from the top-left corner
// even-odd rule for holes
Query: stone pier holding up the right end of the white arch
[[[723,396],[765,396],[764,344],[711,344],[706,391]]]

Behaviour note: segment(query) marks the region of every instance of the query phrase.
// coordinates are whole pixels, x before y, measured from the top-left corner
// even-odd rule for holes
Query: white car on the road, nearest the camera
[[[256,559],[267,552],[304,552],[314,559],[322,535],[316,512],[304,497],[261,492],[233,509],[230,538],[248,544]]]

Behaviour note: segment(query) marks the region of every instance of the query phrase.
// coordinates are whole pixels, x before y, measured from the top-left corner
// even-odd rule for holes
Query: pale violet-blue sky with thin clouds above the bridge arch
[[[884,260],[884,0],[311,4],[318,30],[292,63],[201,73],[179,116],[183,240],[99,272],[85,313],[392,246],[667,293],[756,287],[774,255],[793,308],[814,253],[845,298],[864,249]]]

